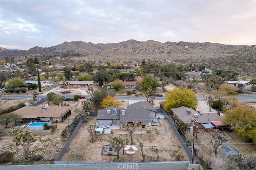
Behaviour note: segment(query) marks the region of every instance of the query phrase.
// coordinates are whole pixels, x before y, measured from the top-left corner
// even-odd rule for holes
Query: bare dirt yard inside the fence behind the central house
[[[70,144],[68,152],[62,158],[62,161],[85,161],[85,162],[111,162],[116,161],[116,156],[102,155],[104,145],[108,145],[112,136],[121,135],[130,140],[126,130],[114,129],[114,134],[97,134],[96,141],[90,142],[90,134],[87,131],[89,123],[95,123],[96,117],[90,117],[88,123],[79,130],[78,134]],[[176,134],[165,119],[160,119],[160,127],[152,126],[151,133],[147,129],[138,129],[134,131],[133,141],[138,147],[139,142],[144,143],[143,152],[146,155],[146,161],[155,161],[156,153],[150,151],[151,146],[159,149],[159,159],[161,161],[189,160],[185,150],[182,148]],[[159,134],[156,133],[159,130]],[[141,150],[136,154],[128,155],[123,150],[120,151],[122,161],[140,161],[142,160]]]

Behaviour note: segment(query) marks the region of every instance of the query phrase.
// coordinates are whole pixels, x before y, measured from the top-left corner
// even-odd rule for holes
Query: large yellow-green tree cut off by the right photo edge
[[[228,109],[222,122],[229,123],[241,137],[256,144],[256,110],[249,106],[238,105]]]

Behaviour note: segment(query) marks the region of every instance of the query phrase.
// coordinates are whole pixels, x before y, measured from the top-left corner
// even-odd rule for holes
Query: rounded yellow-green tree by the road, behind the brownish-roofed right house
[[[196,100],[196,94],[185,87],[175,88],[167,91],[165,95],[166,103],[164,107],[166,109],[177,108],[180,106],[196,108],[198,101]]]

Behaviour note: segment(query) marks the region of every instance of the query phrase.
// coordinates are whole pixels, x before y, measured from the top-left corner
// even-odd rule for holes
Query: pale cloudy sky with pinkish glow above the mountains
[[[0,0],[0,47],[130,39],[256,45],[256,0]]]

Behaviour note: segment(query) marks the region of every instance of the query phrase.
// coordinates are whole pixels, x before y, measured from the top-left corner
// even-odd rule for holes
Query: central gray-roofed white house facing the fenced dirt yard
[[[134,107],[135,105],[132,107],[129,106],[127,109],[123,109],[121,107],[108,107],[106,109],[98,110],[96,118],[98,125],[106,125],[106,123],[108,125],[121,125],[122,122],[126,121],[128,121],[128,123],[138,121],[138,127],[142,128],[149,125],[151,119],[150,110],[147,107],[136,108]]]

